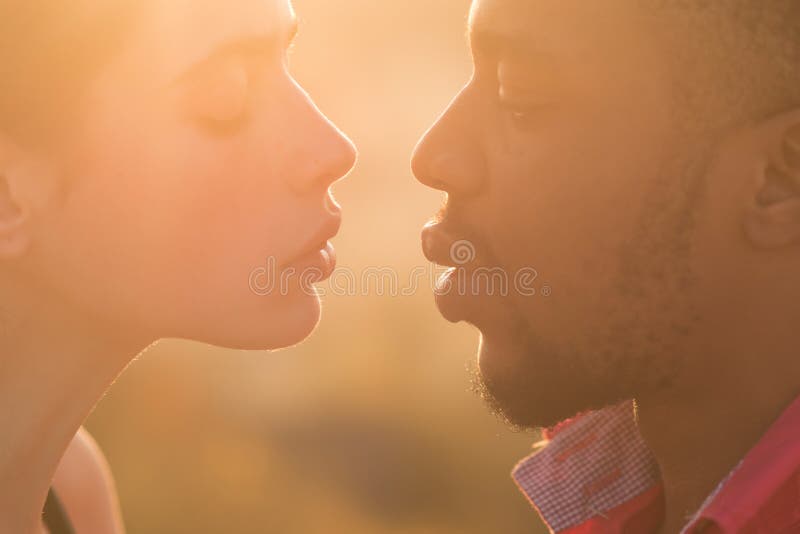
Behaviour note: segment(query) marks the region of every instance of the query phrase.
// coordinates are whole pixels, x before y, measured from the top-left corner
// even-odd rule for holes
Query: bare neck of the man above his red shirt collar
[[[705,375],[712,378],[694,388],[637,399],[639,428],[664,482],[664,533],[680,532],[800,395],[800,370],[755,363]]]

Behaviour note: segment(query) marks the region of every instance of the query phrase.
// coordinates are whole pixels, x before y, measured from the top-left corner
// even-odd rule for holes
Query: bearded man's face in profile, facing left
[[[474,76],[414,157],[448,197],[424,234],[429,258],[468,279],[506,273],[507,296],[484,284],[437,301],[481,330],[480,381],[520,425],[686,373],[715,291],[697,281],[726,261],[693,251],[719,211],[701,195],[715,141],[687,127],[678,73],[638,4],[475,0]],[[462,240],[467,265],[452,257]],[[532,269],[533,296],[515,287]]]

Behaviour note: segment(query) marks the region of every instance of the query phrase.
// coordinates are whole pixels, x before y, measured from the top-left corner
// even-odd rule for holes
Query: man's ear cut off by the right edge
[[[759,165],[744,228],[759,248],[800,245],[800,111],[758,128],[764,158]]]

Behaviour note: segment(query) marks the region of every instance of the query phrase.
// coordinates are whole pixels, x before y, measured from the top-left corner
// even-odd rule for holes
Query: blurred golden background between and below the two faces
[[[405,280],[442,202],[409,155],[470,76],[469,2],[294,4],[293,72],[360,149],[336,186],[340,265]],[[441,319],[427,283],[368,292],[326,297],[296,348],[165,341],[131,365],[87,425],[131,534],[544,532],[509,476],[537,436],[471,392],[477,333]]]

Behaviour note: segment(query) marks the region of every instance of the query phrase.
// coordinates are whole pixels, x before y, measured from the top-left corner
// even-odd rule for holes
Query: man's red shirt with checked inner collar
[[[513,477],[551,532],[655,534],[658,465],[633,405],[590,412],[546,434]],[[800,534],[800,398],[708,497],[684,534]]]

